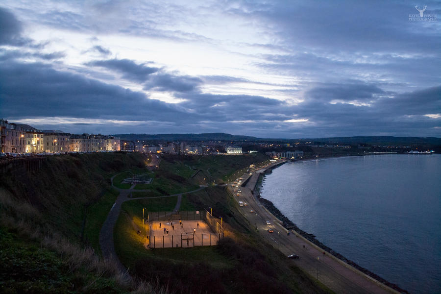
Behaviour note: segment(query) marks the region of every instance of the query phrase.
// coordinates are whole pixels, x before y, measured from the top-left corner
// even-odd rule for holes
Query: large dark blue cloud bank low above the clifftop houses
[[[0,76],[3,117],[176,117],[172,105],[42,63],[3,61]]]

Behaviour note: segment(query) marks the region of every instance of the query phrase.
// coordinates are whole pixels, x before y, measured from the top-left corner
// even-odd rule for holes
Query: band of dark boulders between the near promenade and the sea
[[[379,275],[373,273],[370,270],[367,270],[361,266],[359,266],[358,264],[356,264],[355,262],[347,259],[346,257],[344,257],[342,254],[335,252],[334,250],[332,250],[330,247],[324,245],[323,243],[321,243],[319,240],[316,239],[316,236],[314,236],[313,234],[309,234],[303,230],[301,230],[300,228],[298,228],[294,222],[290,221],[287,217],[285,217],[280,210],[278,210],[274,204],[272,204],[272,202],[270,200],[267,200],[265,198],[260,197],[260,202],[265,206],[266,209],[268,209],[268,211],[270,211],[270,213],[272,215],[274,215],[279,221],[282,222],[282,225],[288,229],[288,230],[294,230],[295,232],[297,232],[298,234],[300,234],[301,236],[303,236],[305,239],[307,239],[308,241],[314,243],[315,245],[319,246],[320,248],[322,248],[324,251],[331,253],[332,255],[334,255],[335,257],[337,257],[338,259],[342,260],[343,262],[347,263],[348,265],[356,268],[357,270],[360,270],[361,272],[367,274],[368,276],[374,278],[375,280],[391,287],[393,290],[396,290],[400,293],[408,293],[406,290],[401,289],[400,287],[398,287],[397,285],[388,282],[387,280],[383,279],[382,277],[380,277]]]

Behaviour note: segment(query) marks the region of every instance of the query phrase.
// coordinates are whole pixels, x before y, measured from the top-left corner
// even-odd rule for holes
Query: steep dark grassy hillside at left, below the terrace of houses
[[[127,293],[127,279],[89,245],[116,198],[110,176],[142,168],[137,153],[51,156],[37,171],[0,170],[0,293]],[[86,221],[85,221],[86,220]]]

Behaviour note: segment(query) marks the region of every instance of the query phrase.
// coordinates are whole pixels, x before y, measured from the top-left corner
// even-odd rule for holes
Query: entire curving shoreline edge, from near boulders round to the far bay
[[[364,156],[364,155],[361,155]],[[320,157],[317,159],[324,159],[324,158],[335,158],[335,157],[348,157],[347,155],[343,155],[343,156],[330,156],[330,157]],[[300,159],[297,161],[303,161],[303,160],[314,160],[314,158],[307,158],[307,159]],[[276,166],[271,167],[269,170],[270,171],[265,171],[262,175],[265,175],[267,173],[272,172],[273,169],[285,164],[286,162],[283,162],[281,164],[278,164]],[[263,182],[260,184],[260,187],[262,186]],[[254,188],[254,190],[256,190],[257,187]],[[259,189],[260,190],[260,189]],[[309,242],[313,243],[314,245],[319,246],[321,249],[323,249],[324,251],[332,254],[333,256],[335,256],[336,258],[340,259],[341,261],[343,261],[344,263],[352,266],[353,268],[360,270],[361,272],[365,273],[366,275],[368,275],[369,277],[377,280],[378,282],[392,288],[395,291],[398,291],[400,293],[407,293],[409,294],[408,291],[400,288],[398,285],[389,282],[388,280],[382,278],[381,276],[377,275],[376,273],[363,268],[362,266],[358,265],[357,263],[353,262],[352,260],[344,257],[342,254],[334,251],[332,248],[324,245],[323,243],[321,243],[319,240],[316,239],[316,236],[314,234],[310,234],[307,233],[305,231],[303,231],[302,229],[300,229],[293,221],[291,221],[290,219],[288,219],[287,217],[285,217],[285,215],[283,215],[280,210],[274,206],[274,204],[268,200],[265,199],[263,197],[260,196],[260,193],[257,193],[257,199],[259,199],[260,203],[277,219],[280,221],[281,225],[286,228],[287,230],[294,230],[297,234],[301,235],[302,237],[304,237],[306,240],[308,240]]]

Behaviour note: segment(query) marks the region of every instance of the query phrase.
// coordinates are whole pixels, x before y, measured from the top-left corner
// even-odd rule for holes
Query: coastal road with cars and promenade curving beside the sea
[[[318,278],[320,282],[336,293],[398,293],[392,288],[368,277],[361,271],[330,256],[328,252],[323,255],[323,250],[317,248],[297,233],[292,232],[288,235],[288,230],[251,193],[257,182],[259,172],[264,172],[264,170],[254,172],[246,186],[240,187],[242,191],[241,196],[234,197],[237,201],[247,202],[247,206],[240,207],[242,213],[251,225],[256,227],[263,239],[285,255],[297,254],[300,256],[296,260],[288,260],[287,258],[287,262],[295,263],[299,268]],[[242,177],[245,179],[245,176],[244,174]],[[232,190],[238,188],[233,188],[229,185],[228,189],[233,195],[236,195]],[[254,213],[250,213],[251,209]],[[271,222],[270,225],[266,223],[267,220]],[[268,229],[272,229],[274,232],[270,233]]]

